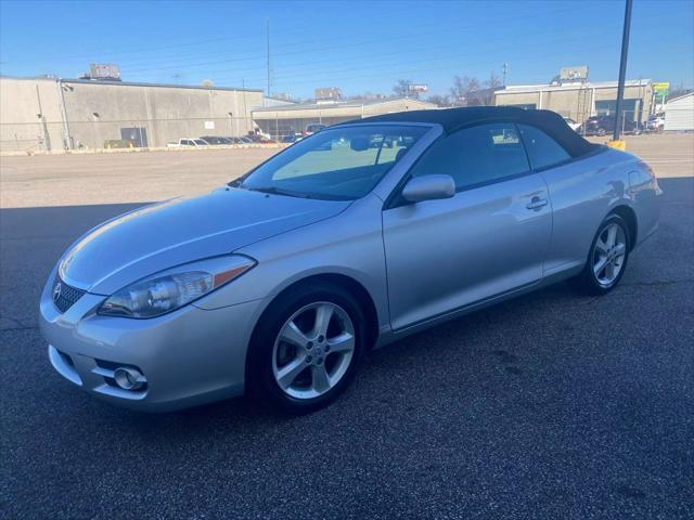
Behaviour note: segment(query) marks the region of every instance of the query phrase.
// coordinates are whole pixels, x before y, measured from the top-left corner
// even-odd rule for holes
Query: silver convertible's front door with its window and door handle
[[[452,198],[383,211],[394,329],[538,283],[552,216],[514,123],[479,125],[441,138],[410,177],[449,174]]]

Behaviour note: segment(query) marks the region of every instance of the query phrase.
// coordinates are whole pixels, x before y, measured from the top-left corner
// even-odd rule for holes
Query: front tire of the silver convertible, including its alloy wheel
[[[291,415],[329,405],[357,373],[365,351],[365,323],[357,300],[336,284],[307,284],[280,295],[250,341],[250,395]]]

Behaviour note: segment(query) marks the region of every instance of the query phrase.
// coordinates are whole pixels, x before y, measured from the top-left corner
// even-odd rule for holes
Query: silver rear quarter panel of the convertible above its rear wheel
[[[580,270],[605,216],[620,205],[633,208],[629,172],[637,161],[632,155],[604,150],[542,172],[553,210],[545,277]]]

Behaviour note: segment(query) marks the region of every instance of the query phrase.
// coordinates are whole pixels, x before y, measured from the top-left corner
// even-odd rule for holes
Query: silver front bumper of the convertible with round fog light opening
[[[149,412],[167,412],[240,395],[246,350],[260,300],[216,310],[189,304],[151,320],[100,316],[103,296],[86,294],[65,313],[41,295],[40,328],[53,367],[82,390]],[[124,390],[118,366],[137,367],[146,384]]]

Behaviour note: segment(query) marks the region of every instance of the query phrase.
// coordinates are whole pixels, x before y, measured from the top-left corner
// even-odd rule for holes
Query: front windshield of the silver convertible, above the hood
[[[239,187],[290,196],[354,200],[381,181],[426,127],[334,127],[304,139],[246,176]]]

